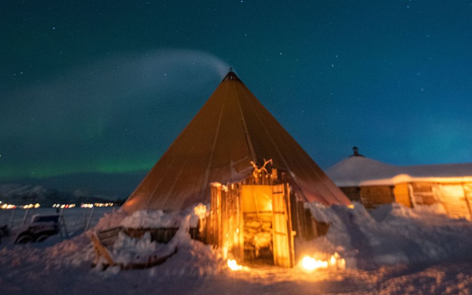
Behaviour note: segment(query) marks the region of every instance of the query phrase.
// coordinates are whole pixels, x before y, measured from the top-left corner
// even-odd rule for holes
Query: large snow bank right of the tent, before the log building
[[[316,203],[308,206],[315,219],[330,224],[327,235],[311,246],[338,251],[348,267],[372,269],[398,263],[472,259],[472,223],[437,214],[441,207],[412,209],[393,203],[369,214],[358,203],[353,209]]]

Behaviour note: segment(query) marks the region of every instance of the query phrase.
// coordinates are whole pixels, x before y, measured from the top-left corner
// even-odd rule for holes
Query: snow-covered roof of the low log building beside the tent
[[[363,156],[351,156],[334,164],[325,172],[338,186],[387,184],[413,180],[460,182],[472,179],[472,163],[396,166]]]

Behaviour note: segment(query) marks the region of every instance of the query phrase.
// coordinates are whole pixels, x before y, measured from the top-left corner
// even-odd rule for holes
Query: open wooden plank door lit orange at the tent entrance
[[[290,203],[284,184],[272,186],[272,244],[274,265],[294,266]]]

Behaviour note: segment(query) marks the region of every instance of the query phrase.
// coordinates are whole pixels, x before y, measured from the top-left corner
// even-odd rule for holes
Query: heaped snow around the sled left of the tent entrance
[[[225,261],[221,252],[214,250],[210,245],[205,245],[194,240],[190,236],[190,227],[197,225],[198,216],[193,211],[193,206],[181,212],[167,213],[162,210],[137,211],[132,215],[126,215],[123,211],[104,216],[97,228],[105,229],[115,226],[142,228],[178,227],[176,235],[167,243],[151,241],[149,232],[141,238],[133,238],[124,233],[118,234],[118,239],[112,247],[111,254],[118,263],[146,263],[149,256],[164,257],[174,253],[165,264],[152,268],[161,276],[191,276],[201,277],[205,275],[221,273],[226,270]],[[155,217],[155,220],[151,218]],[[108,226],[106,226],[108,225]],[[97,266],[98,269],[101,266]],[[158,269],[158,270],[157,270]],[[110,267],[108,275],[116,275],[119,269]]]

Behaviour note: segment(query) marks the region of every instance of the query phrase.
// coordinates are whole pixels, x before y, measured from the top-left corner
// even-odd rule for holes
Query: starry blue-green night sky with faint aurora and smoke
[[[149,170],[230,66],[322,167],[471,162],[472,3],[2,1],[0,181]]]

